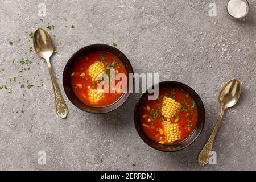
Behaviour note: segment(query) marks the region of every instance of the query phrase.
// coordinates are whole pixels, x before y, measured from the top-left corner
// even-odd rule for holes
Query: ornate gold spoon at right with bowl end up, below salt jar
[[[201,150],[198,156],[198,162],[201,166],[204,166],[209,162],[209,152],[212,151],[214,138],[218,131],[218,127],[220,126],[224,111],[236,105],[237,101],[239,100],[240,94],[241,84],[240,81],[236,79],[226,82],[226,84],[222,87],[221,92],[218,96],[218,102],[220,102],[221,105],[221,113],[218,117],[216,125],[214,126],[212,134],[210,135],[207,143],[205,144],[204,148]]]

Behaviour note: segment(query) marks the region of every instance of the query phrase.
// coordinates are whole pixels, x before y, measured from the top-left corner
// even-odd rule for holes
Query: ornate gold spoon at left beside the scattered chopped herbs
[[[57,114],[64,119],[68,115],[68,107],[65,104],[63,97],[61,96],[59,87],[57,86],[57,82],[55,81],[55,77],[52,72],[50,57],[52,56],[52,53],[54,51],[54,46],[52,43],[51,36],[49,36],[47,31],[43,30],[42,28],[39,28],[34,33],[33,43],[35,52],[38,54],[38,56],[44,58],[47,62],[55,94],[56,111]]]

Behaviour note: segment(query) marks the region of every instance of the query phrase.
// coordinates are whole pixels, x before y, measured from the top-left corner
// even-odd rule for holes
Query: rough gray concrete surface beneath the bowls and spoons
[[[0,169],[255,170],[256,1],[249,1],[250,15],[245,22],[230,20],[226,1],[221,0],[215,1],[217,16],[208,16],[211,2],[0,1],[0,68],[4,69],[0,84],[12,91],[0,90]],[[42,20],[39,3],[46,4]],[[55,26],[49,32],[55,35],[59,51],[52,57],[52,65],[69,107],[65,120],[55,112],[47,65],[34,51],[28,52],[32,42],[24,33],[46,28],[49,22]],[[61,46],[57,45],[59,40]],[[138,94],[104,115],[85,113],[68,101],[62,72],[69,57],[88,44],[113,41],[129,57],[135,72],[159,73],[160,81],[184,82],[199,93],[207,118],[203,133],[190,147],[164,153],[143,143],[133,123]],[[30,71],[9,82],[9,77],[18,75],[22,57],[32,61]],[[12,59],[16,59],[14,64]],[[40,78],[44,84],[41,88],[26,87],[26,80],[36,85]],[[218,91],[230,78],[241,80],[242,97],[226,112],[218,132],[214,144],[217,165],[202,168],[197,155],[220,111]],[[20,88],[19,82],[25,88]],[[46,165],[38,164],[39,151],[46,152]]]

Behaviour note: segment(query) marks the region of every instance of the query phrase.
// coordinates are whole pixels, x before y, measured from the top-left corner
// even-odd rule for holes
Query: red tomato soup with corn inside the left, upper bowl
[[[93,71],[93,68],[95,68],[96,71]],[[122,61],[117,56],[110,52],[97,51],[82,56],[73,67],[71,75],[72,89],[77,98],[85,104],[92,106],[108,106],[117,101],[123,93],[110,93],[110,86],[109,93],[99,94],[99,97],[96,94],[95,97],[98,97],[98,100],[92,100],[98,88],[98,84],[101,82],[97,81],[97,74],[100,71],[101,73],[104,72],[108,74],[110,77],[110,69],[113,68],[115,69],[115,75],[117,73],[124,73],[127,76],[125,65],[123,65]],[[120,80],[115,80],[115,85],[119,81]],[[104,89],[104,87],[102,89]]]

